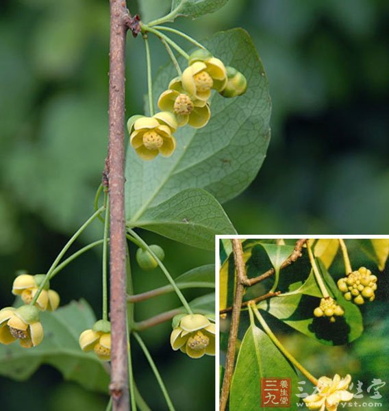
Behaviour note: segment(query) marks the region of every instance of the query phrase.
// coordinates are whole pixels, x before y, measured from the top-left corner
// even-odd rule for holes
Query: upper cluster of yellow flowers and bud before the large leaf
[[[160,95],[158,108],[162,111],[152,117],[132,116],[127,122],[131,147],[140,158],[152,160],[158,154],[168,157],[175,151],[173,133],[177,127],[207,125],[212,89],[223,97],[236,97],[246,91],[247,80],[209,51],[198,49],[189,56],[184,72]]]

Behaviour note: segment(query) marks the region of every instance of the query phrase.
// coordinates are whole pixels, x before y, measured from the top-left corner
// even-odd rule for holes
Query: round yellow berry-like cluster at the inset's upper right
[[[355,304],[361,306],[365,300],[375,299],[377,290],[377,277],[365,267],[353,271],[347,277],[338,280],[338,288],[343,292],[344,298],[348,301],[353,299]]]

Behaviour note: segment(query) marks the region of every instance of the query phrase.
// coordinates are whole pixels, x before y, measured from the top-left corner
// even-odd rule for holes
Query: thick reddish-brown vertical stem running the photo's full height
[[[124,209],[125,162],[125,0],[110,0],[110,96],[108,177],[110,194],[110,321],[112,329],[112,410],[129,410]]]

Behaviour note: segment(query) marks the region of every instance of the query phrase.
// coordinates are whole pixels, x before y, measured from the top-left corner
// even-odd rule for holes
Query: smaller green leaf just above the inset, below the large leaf
[[[199,188],[189,188],[149,208],[133,225],[192,247],[214,250],[216,234],[236,234],[222,206]]]

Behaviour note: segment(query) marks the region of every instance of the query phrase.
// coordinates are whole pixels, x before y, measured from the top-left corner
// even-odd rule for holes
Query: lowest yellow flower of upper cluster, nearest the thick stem
[[[159,112],[152,117],[132,116],[127,122],[130,144],[143,160],[153,160],[158,154],[173,154],[173,137],[177,120],[170,112]]]

